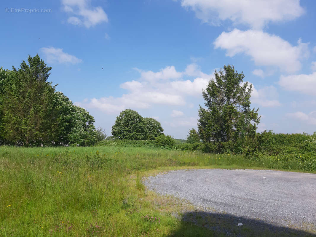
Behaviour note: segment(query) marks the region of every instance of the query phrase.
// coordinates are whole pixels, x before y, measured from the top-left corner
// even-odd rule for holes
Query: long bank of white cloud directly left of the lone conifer
[[[187,65],[181,72],[174,66],[167,66],[158,72],[137,69],[140,73],[138,80],[124,82],[121,88],[127,90],[121,97],[93,98],[89,102],[82,103],[86,108],[98,108],[107,113],[117,113],[126,108],[150,108],[152,105],[183,106],[186,105],[185,97],[201,96],[202,88],[205,88],[210,75],[203,73],[199,66]],[[182,76],[204,76],[193,81],[182,80]],[[189,107],[192,106],[190,103]],[[173,115],[181,115],[182,112],[174,112]]]

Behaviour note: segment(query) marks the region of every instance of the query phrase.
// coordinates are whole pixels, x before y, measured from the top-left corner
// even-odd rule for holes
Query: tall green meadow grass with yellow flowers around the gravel
[[[2,146],[0,236],[220,236],[174,217],[190,204],[145,191],[142,177],[181,168],[282,164],[137,147]]]

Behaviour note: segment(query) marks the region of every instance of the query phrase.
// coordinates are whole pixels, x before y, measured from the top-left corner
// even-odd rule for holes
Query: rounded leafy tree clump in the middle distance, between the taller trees
[[[122,111],[112,126],[114,139],[154,140],[162,134],[160,122],[153,118],[143,118],[131,109]]]

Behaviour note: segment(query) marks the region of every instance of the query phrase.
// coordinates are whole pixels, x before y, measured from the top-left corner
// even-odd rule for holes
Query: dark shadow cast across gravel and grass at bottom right
[[[261,220],[204,211],[182,214],[181,226],[171,236],[310,236],[316,237],[316,226],[305,226],[311,232],[281,227]],[[239,223],[242,223],[240,225]],[[239,226],[237,226],[239,224]]]

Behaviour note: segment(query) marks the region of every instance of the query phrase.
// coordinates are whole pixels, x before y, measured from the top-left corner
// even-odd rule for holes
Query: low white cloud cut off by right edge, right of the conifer
[[[301,93],[315,95],[316,88],[316,72],[312,74],[300,74],[280,76],[279,85],[285,90],[298,91]]]

